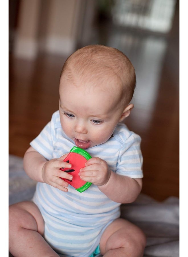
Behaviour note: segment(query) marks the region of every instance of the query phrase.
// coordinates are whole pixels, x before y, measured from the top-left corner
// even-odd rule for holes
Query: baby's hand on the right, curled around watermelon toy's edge
[[[79,176],[82,180],[92,182],[96,186],[103,186],[110,178],[110,169],[104,160],[98,157],[91,158],[80,169]]]

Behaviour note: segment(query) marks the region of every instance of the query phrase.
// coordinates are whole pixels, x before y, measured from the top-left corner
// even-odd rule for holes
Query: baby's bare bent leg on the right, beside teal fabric
[[[144,254],[146,238],[144,233],[124,219],[112,222],[104,231],[100,249],[101,254],[107,256],[141,257]]]

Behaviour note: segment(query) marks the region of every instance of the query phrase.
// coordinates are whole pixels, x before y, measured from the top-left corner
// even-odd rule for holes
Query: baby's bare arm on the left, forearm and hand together
[[[63,162],[66,155],[57,159],[46,160],[33,147],[28,148],[24,155],[24,170],[30,178],[38,182],[47,183],[55,188],[67,192],[68,183],[61,178],[72,179],[72,175],[60,170],[60,168],[71,168],[71,164]],[[60,178],[61,177],[61,178]]]

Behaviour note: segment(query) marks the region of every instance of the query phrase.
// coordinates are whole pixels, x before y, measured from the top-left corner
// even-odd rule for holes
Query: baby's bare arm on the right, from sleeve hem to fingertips
[[[141,178],[130,178],[114,173],[107,162],[95,157],[87,160],[80,170],[80,178],[92,182],[114,202],[129,203],[136,200],[142,189]]]

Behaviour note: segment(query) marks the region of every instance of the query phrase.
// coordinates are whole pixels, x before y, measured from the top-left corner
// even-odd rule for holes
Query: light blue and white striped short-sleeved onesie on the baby
[[[140,136],[119,123],[107,142],[86,150],[92,157],[105,160],[113,172],[142,178],[140,141]],[[61,128],[59,111],[30,145],[47,160],[59,158],[75,146]],[[32,200],[45,222],[45,240],[61,256],[90,256],[105,228],[120,217],[120,203],[93,184],[80,193],[70,185],[68,192],[63,192],[38,182]]]

